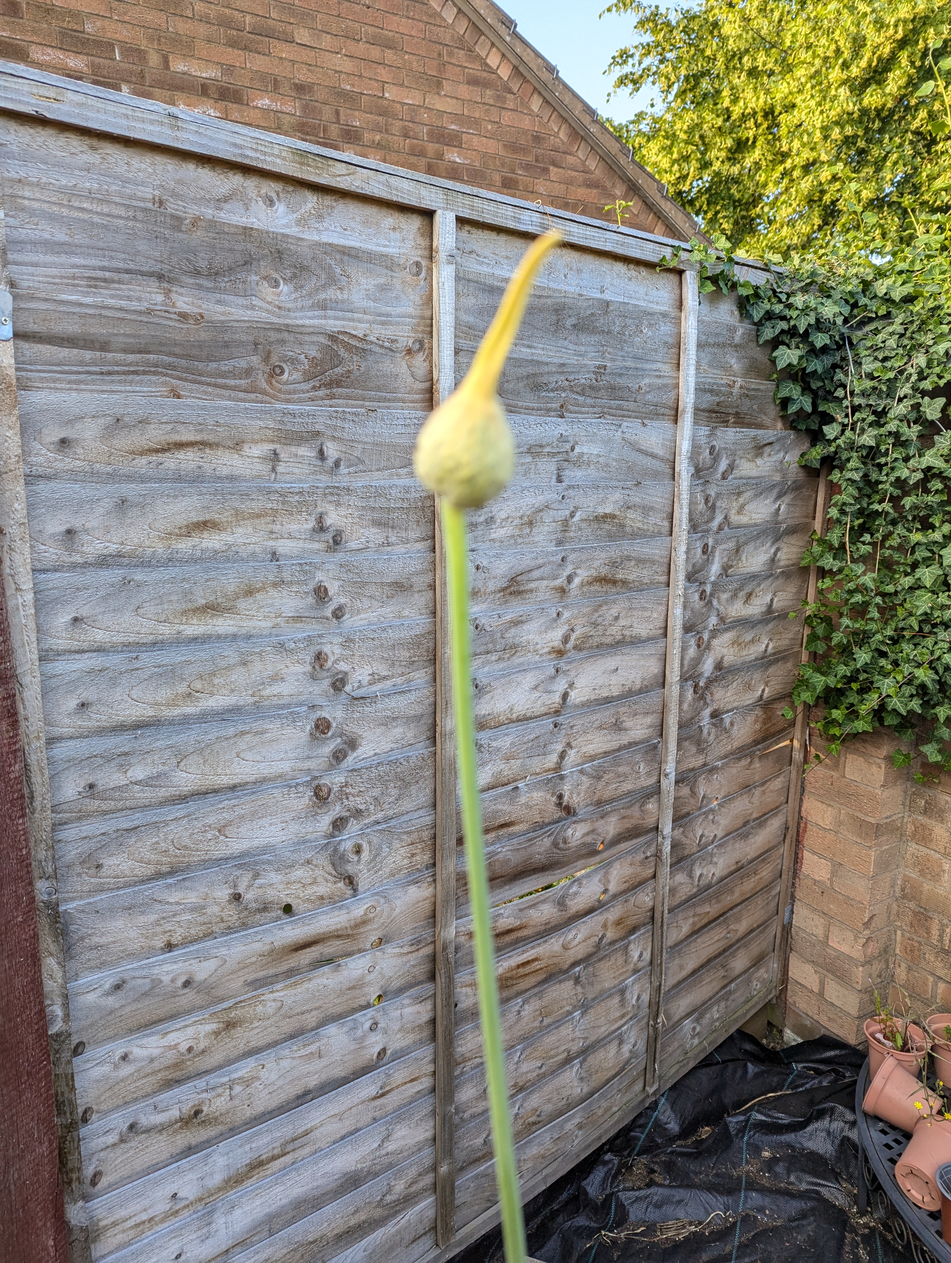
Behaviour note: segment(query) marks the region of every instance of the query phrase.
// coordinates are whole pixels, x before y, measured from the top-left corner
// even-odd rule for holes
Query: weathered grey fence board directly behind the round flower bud
[[[207,400],[136,399],[123,393],[77,400],[66,392],[24,390],[21,402],[28,480],[193,484],[213,479],[226,485],[307,482],[318,488],[381,477],[412,481],[413,443],[424,419],[424,412],[383,407],[296,407],[240,399],[230,402],[222,414],[218,403]],[[515,413],[509,422],[517,475],[534,482],[671,477],[673,432],[667,423],[566,422],[559,416]],[[775,466],[778,456],[768,445],[754,438],[738,443],[740,451],[729,456],[733,472],[755,476]],[[710,464],[712,457],[705,460]],[[725,461],[724,456],[716,465],[717,477]]]

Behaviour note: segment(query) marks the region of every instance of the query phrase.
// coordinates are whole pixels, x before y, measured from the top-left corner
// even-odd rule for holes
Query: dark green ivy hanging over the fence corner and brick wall
[[[827,530],[803,557],[820,567],[816,600],[803,602],[813,659],[794,702],[822,703],[813,726],[832,755],[882,725],[951,768],[951,392],[941,393],[951,381],[951,224],[909,215],[898,240],[878,240],[875,215],[852,210],[841,248],[822,260],[768,259],[762,283],[724,237],[664,261],[690,251],[701,293],[739,293],[759,341],[773,345],[777,400],[811,434],[801,462],[828,470]]]

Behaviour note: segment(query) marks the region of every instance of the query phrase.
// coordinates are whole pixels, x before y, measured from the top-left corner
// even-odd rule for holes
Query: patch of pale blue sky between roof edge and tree
[[[611,77],[601,72],[616,49],[631,42],[631,19],[599,13],[610,0],[496,0],[518,23],[519,34],[554,62],[558,73],[599,112],[624,121],[650,104],[650,90],[618,93],[607,102]]]

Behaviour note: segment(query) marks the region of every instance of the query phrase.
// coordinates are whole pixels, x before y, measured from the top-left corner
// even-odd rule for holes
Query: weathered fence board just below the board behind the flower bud
[[[730,506],[749,517],[738,482],[715,488],[726,520]],[[763,491],[762,494],[767,494]],[[535,486],[514,481],[471,515],[474,544],[504,544],[511,538],[557,547],[583,541],[614,543],[666,536],[669,530],[669,482],[640,482],[637,495],[616,484]],[[710,496],[707,496],[710,499]],[[762,495],[760,495],[762,499]],[[351,482],[316,491],[309,486],[244,488],[38,481],[28,506],[37,525],[37,570],[76,566],[162,566],[181,562],[307,561],[361,551],[432,551],[432,505],[418,484]],[[700,508],[697,510],[701,512]],[[726,517],[724,517],[724,514]],[[703,514],[703,522],[711,513]],[[729,523],[733,525],[734,523]]]

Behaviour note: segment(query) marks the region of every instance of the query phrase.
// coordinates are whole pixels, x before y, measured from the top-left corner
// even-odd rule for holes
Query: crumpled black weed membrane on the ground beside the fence
[[[525,1207],[543,1263],[903,1263],[856,1206],[855,1082],[837,1039],[738,1032]],[[503,1263],[489,1233],[458,1263]]]

